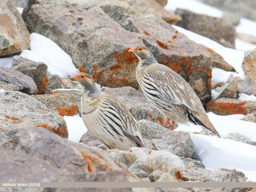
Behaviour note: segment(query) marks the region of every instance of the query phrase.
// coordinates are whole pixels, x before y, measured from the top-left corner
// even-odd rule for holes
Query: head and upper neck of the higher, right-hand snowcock
[[[136,55],[136,57],[139,59],[141,66],[157,63],[153,53],[147,47],[133,47],[129,50],[129,52],[132,52]]]

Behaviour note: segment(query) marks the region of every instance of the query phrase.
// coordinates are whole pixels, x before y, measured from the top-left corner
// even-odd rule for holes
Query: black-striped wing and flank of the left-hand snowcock
[[[103,98],[98,109],[100,123],[110,134],[118,135],[121,140],[127,137],[139,147],[144,146],[138,124],[123,103],[115,98]]]

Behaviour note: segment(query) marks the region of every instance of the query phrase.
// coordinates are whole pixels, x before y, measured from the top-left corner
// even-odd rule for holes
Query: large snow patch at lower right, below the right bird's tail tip
[[[195,144],[195,153],[206,169],[236,169],[245,173],[247,181],[256,181],[255,146],[206,135],[190,133],[190,136]]]

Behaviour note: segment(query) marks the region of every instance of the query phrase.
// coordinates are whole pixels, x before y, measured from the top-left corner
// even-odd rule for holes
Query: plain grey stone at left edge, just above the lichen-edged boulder
[[[3,89],[21,91],[27,94],[35,94],[37,91],[36,84],[33,78],[25,75],[17,70],[1,67],[0,66],[0,85],[3,85]],[[7,85],[6,85],[7,83]],[[9,86],[10,85],[10,86]],[[22,87],[22,89],[20,89]]]

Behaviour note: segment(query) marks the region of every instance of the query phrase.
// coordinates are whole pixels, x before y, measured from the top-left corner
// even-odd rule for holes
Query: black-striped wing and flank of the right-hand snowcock
[[[190,85],[172,69],[162,66],[147,70],[141,81],[143,93],[158,108],[170,111],[171,103],[196,111],[194,91]]]

